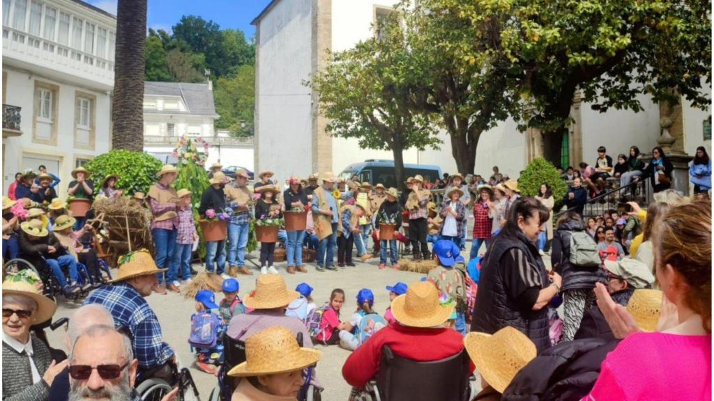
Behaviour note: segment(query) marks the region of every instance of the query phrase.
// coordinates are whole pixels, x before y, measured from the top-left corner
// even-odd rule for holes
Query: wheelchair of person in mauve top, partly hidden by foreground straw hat
[[[303,335],[297,335],[298,345],[303,346]],[[218,385],[211,390],[208,401],[231,401],[233,391],[238,387],[240,379],[228,376],[228,371],[234,366],[246,361],[246,342],[235,340],[223,334],[223,363],[218,367]],[[298,401],[321,401],[322,389],[310,383],[313,367],[308,367],[303,373],[305,384],[298,393]]]

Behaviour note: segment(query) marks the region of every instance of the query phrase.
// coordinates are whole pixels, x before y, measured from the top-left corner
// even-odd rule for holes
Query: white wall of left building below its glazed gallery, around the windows
[[[42,76],[19,72],[3,66],[7,76],[7,89],[5,103],[19,106],[21,110],[22,136],[3,139],[4,146],[4,171],[3,192],[14,179],[16,172],[23,166],[23,157],[46,158],[59,161],[59,172],[55,173],[61,179],[59,196],[66,196],[67,185],[72,180],[70,172],[74,169],[75,158],[92,158],[109,151],[109,126],[110,98],[103,91],[91,91],[88,88],[74,86],[69,83],[59,83]],[[34,111],[34,83],[35,80],[52,83],[59,86],[59,113],[55,123],[57,127],[56,146],[43,145],[32,141],[32,113]],[[74,103],[75,91],[91,93],[96,96],[96,139],[94,150],[74,148]],[[38,166],[33,166],[36,169]]]

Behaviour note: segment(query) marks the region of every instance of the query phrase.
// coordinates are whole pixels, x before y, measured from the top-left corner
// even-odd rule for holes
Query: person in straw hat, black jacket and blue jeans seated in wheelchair
[[[21,258],[32,263],[40,272],[46,271],[46,266],[49,266],[64,295],[78,293],[81,289],[77,284],[79,273],[76,260],[74,256],[67,253],[59,239],[44,227],[41,220],[26,221],[20,225],[20,228],[18,242]],[[69,283],[63,268],[68,270]]]

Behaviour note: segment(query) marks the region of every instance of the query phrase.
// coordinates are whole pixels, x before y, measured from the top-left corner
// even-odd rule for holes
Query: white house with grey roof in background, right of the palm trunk
[[[181,136],[208,142],[208,166],[253,169],[253,138],[232,138],[216,132],[218,119],[213,103],[213,84],[183,82],[144,83],[144,151],[164,163],[175,163],[172,153]],[[206,167],[208,167],[206,166]]]

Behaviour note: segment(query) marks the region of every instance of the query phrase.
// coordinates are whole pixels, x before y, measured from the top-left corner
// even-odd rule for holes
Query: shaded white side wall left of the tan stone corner
[[[279,179],[313,173],[311,92],[312,1],[278,1],[258,24],[258,168]]]

